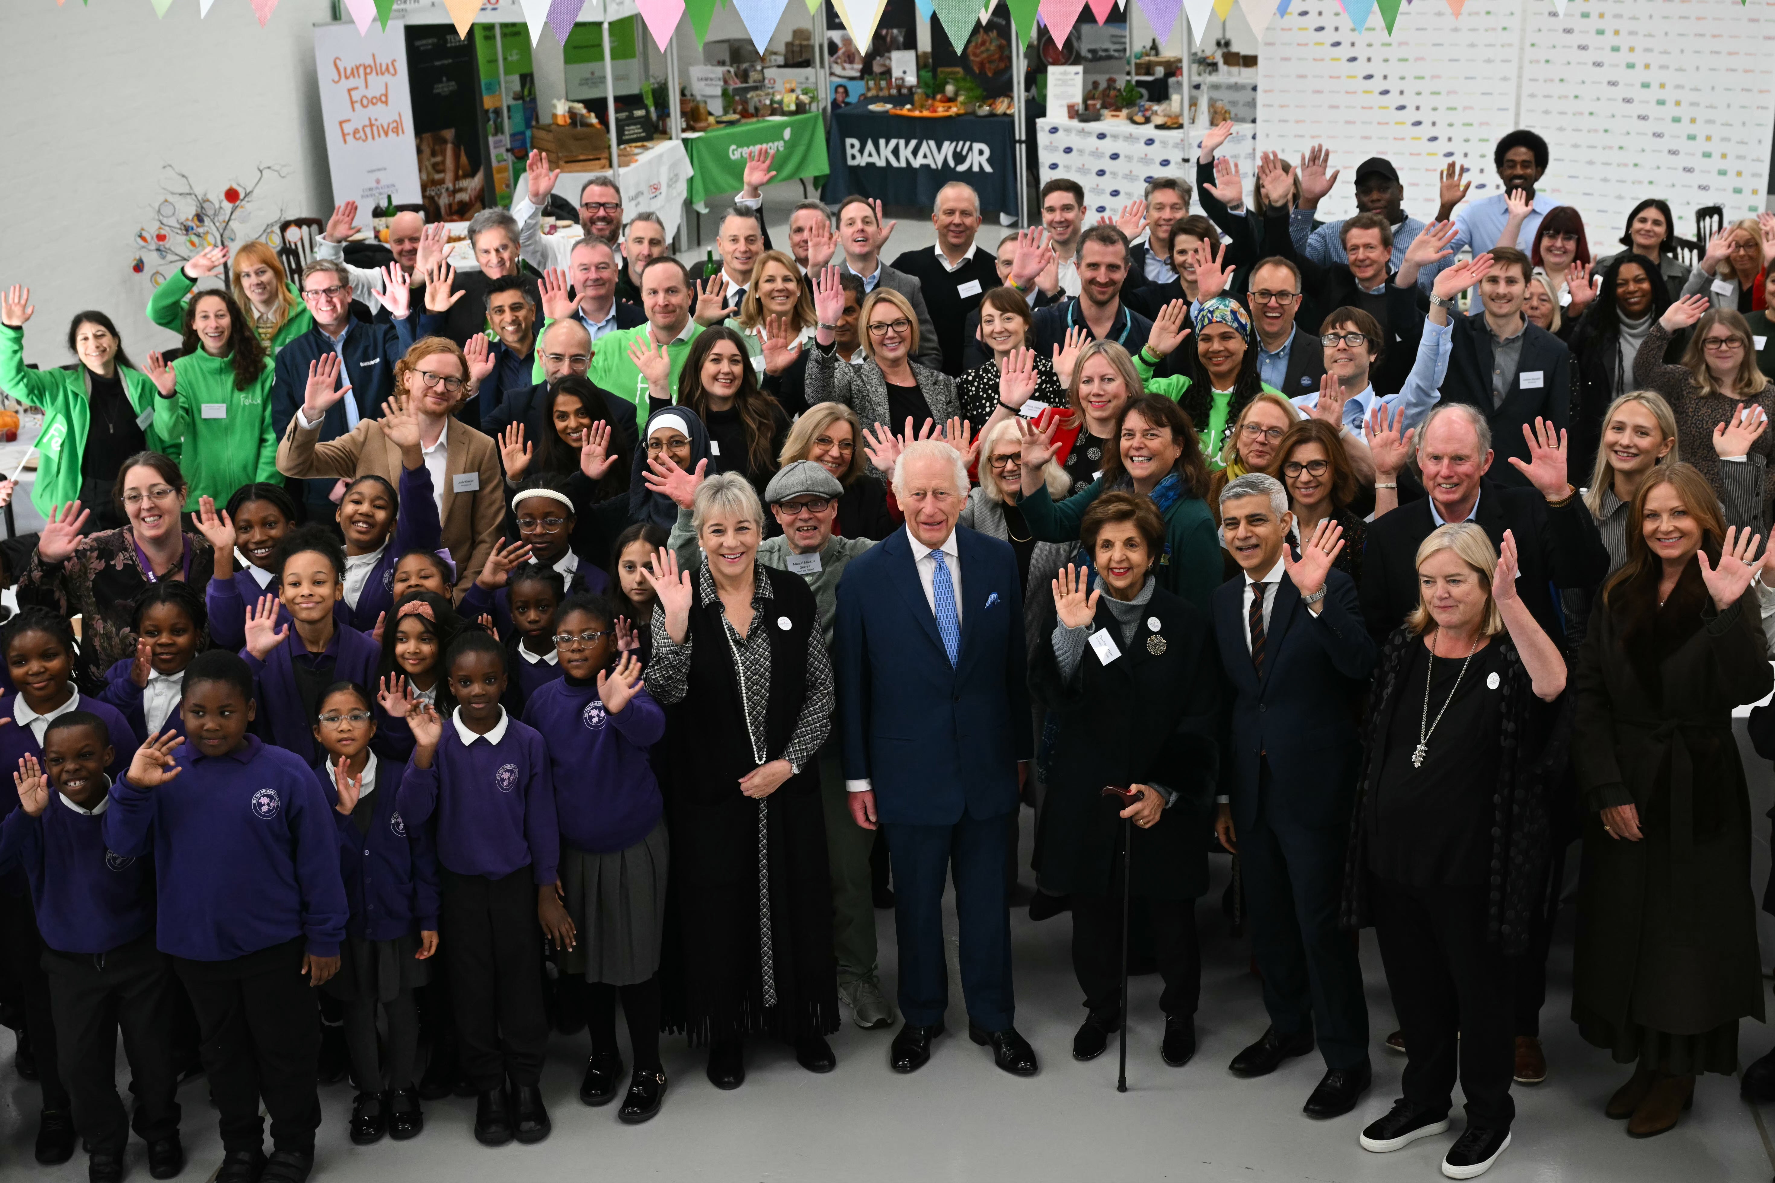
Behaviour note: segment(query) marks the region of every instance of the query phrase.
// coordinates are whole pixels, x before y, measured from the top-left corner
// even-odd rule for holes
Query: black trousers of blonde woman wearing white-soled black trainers
[[[1459,1075],[1468,1126],[1509,1130],[1516,995],[1511,960],[1486,938],[1486,889],[1370,876],[1369,903],[1406,1036],[1406,1100],[1447,1114]]]

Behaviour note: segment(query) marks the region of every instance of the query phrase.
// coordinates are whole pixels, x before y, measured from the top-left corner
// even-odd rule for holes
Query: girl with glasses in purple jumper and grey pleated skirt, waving
[[[616,649],[616,607],[570,596],[556,612],[563,676],[531,695],[524,720],[548,745],[559,899],[541,896],[543,931],[561,972],[586,979],[591,1059],[579,1100],[616,1096],[616,995],[623,995],[635,1073],[618,1117],[646,1121],[660,1109],[660,940],[666,928],[666,803],[648,748],[666,734],[666,709],[641,683],[641,660]],[[621,658],[621,660],[618,660]]]

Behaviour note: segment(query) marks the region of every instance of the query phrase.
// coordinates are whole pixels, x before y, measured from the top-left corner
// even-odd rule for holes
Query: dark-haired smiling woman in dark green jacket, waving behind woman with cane
[[[1212,610],[1221,584],[1219,532],[1209,513],[1209,466],[1189,417],[1170,397],[1140,394],[1122,408],[1120,447],[1102,459],[1102,475],[1083,493],[1054,502],[1047,493],[1045,466],[1054,458],[1058,420],[1045,431],[1019,419],[1022,431],[1022,520],[1044,543],[1079,537],[1079,521],[1100,495],[1134,491],[1150,497],[1164,518],[1164,552],[1159,555],[1159,587],[1182,596],[1203,614]],[[1083,562],[1090,562],[1085,555]]]

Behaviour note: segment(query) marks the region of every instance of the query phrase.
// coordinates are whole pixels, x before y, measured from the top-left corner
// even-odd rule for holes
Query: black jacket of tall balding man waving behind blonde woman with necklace
[[[1566,631],[1548,589],[1589,589],[1608,575],[1608,552],[1596,518],[1576,497],[1555,509],[1537,490],[1507,490],[1482,477],[1473,521],[1484,527],[1493,546],[1503,544],[1505,530],[1516,536],[1521,562],[1516,591],[1548,637],[1562,642]],[[1434,529],[1427,497],[1369,523],[1361,614],[1376,642],[1386,640],[1418,607],[1418,544]]]

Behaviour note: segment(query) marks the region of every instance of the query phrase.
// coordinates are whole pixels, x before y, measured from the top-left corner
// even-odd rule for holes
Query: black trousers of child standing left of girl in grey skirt
[[[543,983],[538,974],[543,929],[536,919],[531,869],[490,880],[442,873],[438,922],[451,951],[449,990],[456,1009],[462,1068],[481,1093],[538,1084],[548,1045]]]

